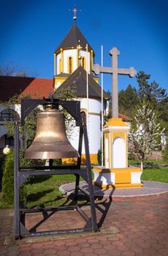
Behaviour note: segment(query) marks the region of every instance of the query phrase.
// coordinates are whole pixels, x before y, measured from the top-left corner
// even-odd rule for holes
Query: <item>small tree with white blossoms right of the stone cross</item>
[[[135,111],[134,123],[129,133],[129,154],[143,162],[161,145],[161,126],[148,102],[142,102]]]

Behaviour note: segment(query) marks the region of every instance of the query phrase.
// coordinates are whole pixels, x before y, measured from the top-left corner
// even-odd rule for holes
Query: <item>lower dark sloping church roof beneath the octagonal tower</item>
[[[89,98],[101,98],[101,87],[92,78],[92,75],[88,75],[88,87],[89,87]],[[57,98],[65,89],[73,88],[75,96],[87,97],[87,72],[79,66],[72,75],[65,80],[60,87],[53,93],[53,97]],[[103,98],[109,99],[108,95],[103,91]]]

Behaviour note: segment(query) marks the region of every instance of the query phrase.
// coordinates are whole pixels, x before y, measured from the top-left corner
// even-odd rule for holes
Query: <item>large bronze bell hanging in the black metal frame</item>
[[[47,105],[37,114],[36,135],[31,146],[25,150],[26,159],[60,159],[79,157],[65,132],[64,114]]]

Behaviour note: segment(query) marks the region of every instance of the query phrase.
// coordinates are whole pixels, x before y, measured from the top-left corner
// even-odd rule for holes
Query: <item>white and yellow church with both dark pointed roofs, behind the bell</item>
[[[81,112],[84,111],[87,115],[90,159],[93,164],[97,164],[101,141],[101,87],[98,85],[98,77],[92,73],[94,50],[76,26],[76,16],[74,18],[73,26],[54,53],[55,92],[52,97],[59,98],[59,95],[63,95],[63,92],[71,87],[74,98],[80,100]],[[104,113],[107,102],[108,95],[103,92]],[[69,140],[78,150],[79,127],[74,127],[73,136]],[[82,159],[85,159],[84,147]]]

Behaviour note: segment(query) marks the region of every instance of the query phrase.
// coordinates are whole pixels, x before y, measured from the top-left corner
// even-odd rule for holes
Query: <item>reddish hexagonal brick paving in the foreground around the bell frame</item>
[[[103,206],[102,206],[103,208]],[[66,215],[66,214],[65,214]],[[98,213],[98,219],[101,214]],[[60,219],[63,219],[60,217]],[[58,219],[59,221],[59,219]],[[54,220],[51,220],[54,224]],[[69,226],[72,219],[66,219]],[[74,221],[75,222],[75,221]],[[12,233],[13,212],[0,211],[0,255],[7,256],[161,256],[168,255],[168,196],[164,198],[113,202],[103,222],[104,228],[116,226],[121,233],[55,239],[4,246]]]

